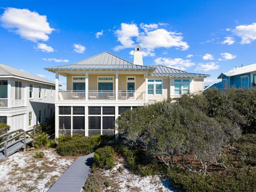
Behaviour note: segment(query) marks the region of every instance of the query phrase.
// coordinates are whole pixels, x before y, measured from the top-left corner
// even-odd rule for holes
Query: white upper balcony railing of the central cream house
[[[118,100],[145,100],[145,92],[138,91],[118,91]],[[88,100],[116,100],[115,91],[88,91]],[[85,100],[85,91],[59,91],[59,100]]]

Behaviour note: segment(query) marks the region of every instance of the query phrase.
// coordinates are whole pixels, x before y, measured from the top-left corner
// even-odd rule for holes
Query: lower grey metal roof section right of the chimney
[[[174,69],[171,67],[166,67],[163,65],[151,66],[155,67],[156,70],[151,74],[151,76],[169,76],[169,77],[209,77],[207,74],[197,74],[197,73],[188,73],[183,70]]]

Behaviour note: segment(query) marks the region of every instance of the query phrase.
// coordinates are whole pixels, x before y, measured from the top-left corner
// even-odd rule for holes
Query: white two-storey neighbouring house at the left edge
[[[54,116],[55,83],[0,64],[0,123],[27,130]]]

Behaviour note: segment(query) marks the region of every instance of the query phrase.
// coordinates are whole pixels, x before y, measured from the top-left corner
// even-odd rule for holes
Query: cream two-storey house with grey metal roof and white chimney
[[[135,63],[135,64],[134,64]],[[209,75],[166,66],[143,65],[136,46],[133,63],[103,52],[73,65],[48,67],[55,73],[55,136],[114,135],[115,119],[125,110],[203,91]],[[59,90],[59,75],[67,90]]]

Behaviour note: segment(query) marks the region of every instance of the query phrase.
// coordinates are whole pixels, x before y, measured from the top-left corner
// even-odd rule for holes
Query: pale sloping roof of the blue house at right
[[[250,73],[252,71],[256,71],[256,63],[247,65],[247,66],[235,67],[225,73],[221,73],[218,76],[218,78],[222,78],[223,76],[231,77],[231,76],[246,74],[246,73]]]

